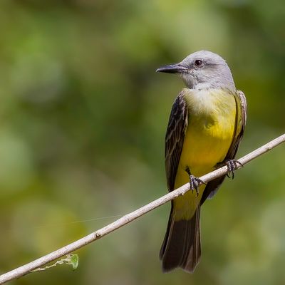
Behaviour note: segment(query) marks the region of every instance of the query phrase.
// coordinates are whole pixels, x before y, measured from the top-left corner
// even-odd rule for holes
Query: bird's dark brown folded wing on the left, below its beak
[[[182,152],[185,132],[188,125],[188,111],[183,92],[172,105],[170,119],[165,135],[165,170],[168,190],[175,187],[175,177]]]

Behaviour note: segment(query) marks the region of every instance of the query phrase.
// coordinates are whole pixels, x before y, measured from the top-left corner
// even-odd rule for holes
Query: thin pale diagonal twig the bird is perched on
[[[250,152],[248,155],[245,155],[244,157],[240,158],[239,162],[241,162],[242,165],[245,165],[247,164],[247,162],[254,160],[254,158],[259,157],[259,155],[263,155],[265,152],[268,152],[269,150],[276,147],[277,145],[280,145],[284,141],[285,141],[285,134],[281,135],[279,138],[271,140],[270,142],[266,143],[266,145],[263,145],[259,147],[257,150],[254,150],[253,152]],[[242,167],[242,165],[238,165],[237,168]],[[202,177],[199,178],[204,182],[209,182],[214,178],[227,174],[227,172],[228,172],[227,166],[224,166],[220,167],[217,170],[209,172],[208,174],[203,175]],[[66,254],[70,254],[71,252],[74,252],[77,249],[80,249],[81,247],[90,244],[91,242],[95,242],[95,240],[100,239],[101,237],[110,234],[110,232],[113,232],[116,229],[125,226],[125,224],[128,224],[129,222],[132,222],[134,219],[141,217],[143,214],[152,211],[152,209],[160,207],[162,204],[165,204],[166,202],[169,202],[170,200],[175,199],[180,195],[184,195],[185,192],[187,192],[188,190],[189,190],[189,183],[179,187],[177,190],[174,190],[168,193],[167,195],[164,195],[156,199],[153,202],[150,202],[149,204],[146,204],[143,207],[140,207],[140,209],[136,209],[134,212],[131,212],[130,214],[126,214],[120,219],[117,219],[115,222],[108,224],[107,226],[101,229],[98,229],[98,231],[93,232],[92,234],[88,234],[88,236],[83,237],[81,239],[78,239],[76,242],[68,244],[65,247],[62,247],[61,249],[56,250],[55,252],[46,254],[44,257],[31,261],[28,264],[25,264],[12,271],[2,274],[0,276],[0,284],[4,284],[7,281],[11,281],[13,279],[17,279],[21,276],[24,276],[29,272],[37,269],[38,267],[41,267],[45,264],[48,264],[51,261],[59,259],[60,257],[65,256]]]

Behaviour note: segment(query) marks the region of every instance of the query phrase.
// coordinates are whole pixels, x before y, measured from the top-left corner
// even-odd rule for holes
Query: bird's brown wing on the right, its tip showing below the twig
[[[235,135],[232,140],[232,145],[229,147],[229,151],[227,152],[225,160],[233,160],[235,155],[237,154],[237,150],[239,149],[239,144],[242,140],[242,136],[244,135],[244,128],[247,123],[247,99],[242,91],[237,90],[236,95],[234,96],[237,103],[237,117],[235,124]],[[219,186],[224,181],[225,175],[214,179],[207,183],[206,188],[204,189],[202,199],[200,204],[203,204],[206,199],[212,198],[219,189]]]

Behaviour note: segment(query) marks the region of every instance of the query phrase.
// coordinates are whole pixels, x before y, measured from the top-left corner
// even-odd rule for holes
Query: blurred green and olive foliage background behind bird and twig
[[[164,137],[183,83],[155,73],[219,53],[247,95],[239,155],[284,132],[284,1],[2,0],[0,271],[167,192]],[[284,284],[284,146],[227,179],[202,208],[195,274],[162,274],[170,205],[11,284]]]

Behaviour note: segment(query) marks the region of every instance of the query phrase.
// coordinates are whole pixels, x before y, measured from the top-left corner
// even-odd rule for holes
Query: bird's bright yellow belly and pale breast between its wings
[[[224,160],[234,137],[236,119],[234,95],[224,91],[203,93],[202,99],[199,98],[199,94],[194,98],[191,95],[192,93],[188,94],[186,98],[189,104],[189,123],[175,177],[175,189],[189,182],[186,167],[189,167],[191,174],[196,177],[214,170],[215,165]],[[175,219],[192,217],[204,187],[204,185],[199,187],[198,196],[195,191],[193,193],[190,191],[175,199]]]

